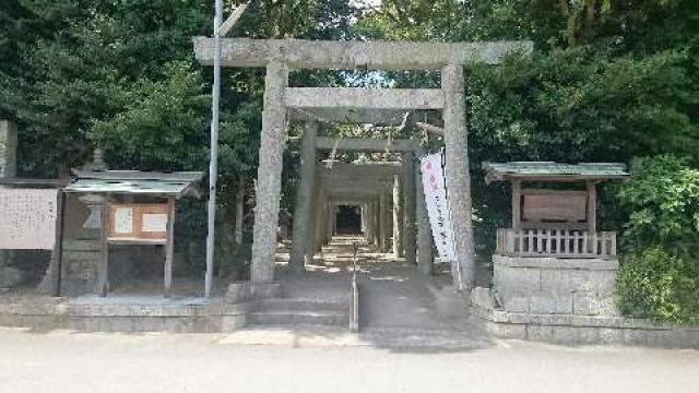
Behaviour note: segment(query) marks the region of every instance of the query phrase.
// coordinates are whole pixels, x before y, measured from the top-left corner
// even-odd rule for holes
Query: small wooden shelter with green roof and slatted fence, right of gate
[[[596,184],[627,178],[626,165],[528,162],[484,163],[483,168],[486,182],[512,183],[512,227],[498,229],[497,253],[616,257],[616,233],[597,230]]]

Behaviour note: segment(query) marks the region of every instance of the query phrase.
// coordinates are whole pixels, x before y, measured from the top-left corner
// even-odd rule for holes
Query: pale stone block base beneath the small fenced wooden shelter
[[[496,300],[509,312],[616,315],[617,260],[494,255]]]

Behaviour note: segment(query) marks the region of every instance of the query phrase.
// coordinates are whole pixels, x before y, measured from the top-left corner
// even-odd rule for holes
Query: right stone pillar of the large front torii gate
[[[441,71],[445,92],[446,178],[449,212],[453,230],[458,290],[470,293],[475,286],[473,225],[471,218],[471,175],[469,171],[469,132],[463,67],[449,64]]]

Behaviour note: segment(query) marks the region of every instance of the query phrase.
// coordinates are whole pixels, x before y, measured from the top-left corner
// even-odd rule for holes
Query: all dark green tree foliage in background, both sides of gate
[[[226,0],[226,9],[236,2]],[[695,0],[362,3],[256,0],[232,35],[535,44],[529,59],[513,56],[497,67],[466,70],[474,206],[481,218],[476,233],[484,258],[494,226],[507,224],[509,201],[502,187],[484,184],[477,171],[483,160],[629,162],[676,153],[699,164]],[[210,0],[2,1],[0,117],[19,122],[21,172],[64,175],[90,159],[95,146],[122,169],[205,170],[212,78],[210,69],[196,64],[191,37],[211,35],[212,15]],[[240,177],[256,174],[263,76],[263,70],[224,70],[224,195],[234,192]],[[293,72],[291,83],[437,87],[439,73],[305,71]],[[363,135],[389,132],[367,129]],[[416,138],[410,127],[401,132]],[[295,146],[299,129],[289,134]],[[287,207],[293,207],[297,168],[295,151],[287,151]],[[224,211],[230,210],[229,200],[221,199]]]

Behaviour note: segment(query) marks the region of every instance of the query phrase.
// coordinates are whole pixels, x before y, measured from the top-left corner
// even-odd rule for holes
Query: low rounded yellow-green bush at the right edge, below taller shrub
[[[695,263],[660,247],[626,255],[617,278],[617,305],[632,318],[699,322],[699,279]]]

